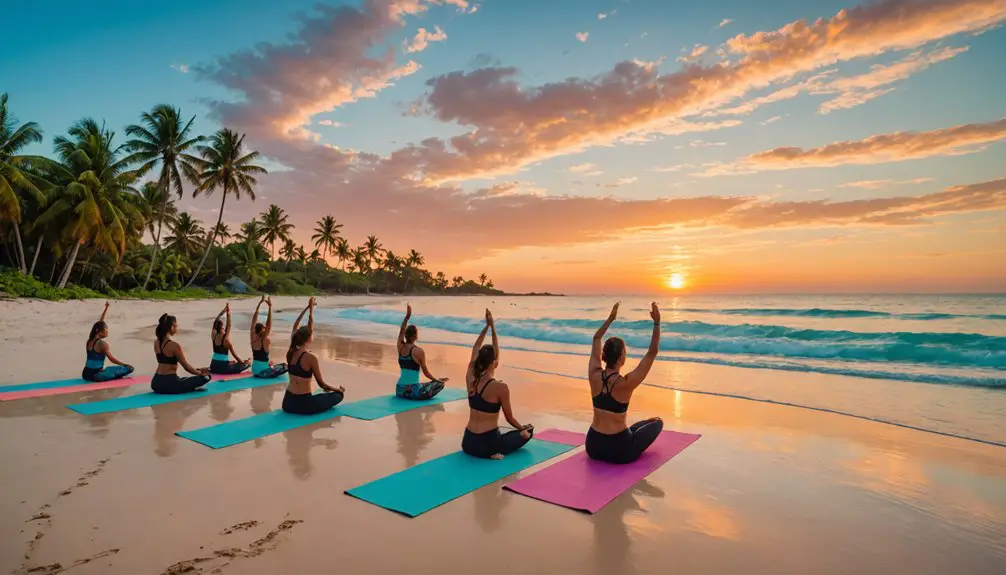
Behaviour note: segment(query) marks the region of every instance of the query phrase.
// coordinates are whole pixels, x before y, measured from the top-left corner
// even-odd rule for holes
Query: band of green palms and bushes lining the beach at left
[[[255,201],[268,172],[243,134],[197,135],[194,121],[155,106],[123,139],[85,118],[53,138],[50,157],[28,155],[42,128],[20,124],[0,95],[0,292],[206,297],[237,277],[273,294],[501,294],[485,273],[449,280],[415,249],[398,255],[374,235],[354,244],[332,214],[313,224],[309,245],[277,204],[231,228],[225,207]],[[181,209],[186,196],[218,197],[215,221]]]

